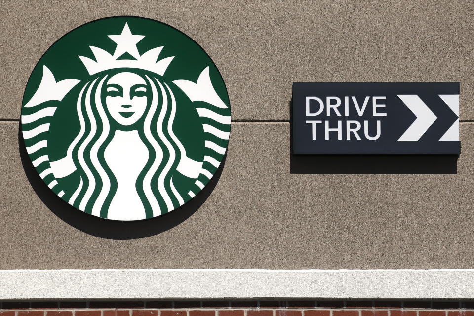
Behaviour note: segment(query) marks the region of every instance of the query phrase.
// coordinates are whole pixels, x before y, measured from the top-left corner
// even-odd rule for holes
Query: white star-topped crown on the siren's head
[[[132,34],[128,24],[125,23],[121,34],[109,35],[109,38],[117,43],[114,55],[109,54],[99,47],[89,46],[94,54],[95,61],[84,56],[79,56],[79,58],[85,68],[87,68],[89,75],[115,68],[139,68],[163,76],[174,56],[166,57],[157,62],[158,55],[163,49],[163,46],[150,49],[143,53],[143,55],[140,55],[136,45],[144,37],[144,35]],[[130,54],[135,59],[118,59],[124,53]]]

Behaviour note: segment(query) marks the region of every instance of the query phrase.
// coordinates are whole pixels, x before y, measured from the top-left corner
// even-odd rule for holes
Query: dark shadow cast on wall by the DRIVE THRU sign
[[[290,101],[290,173],[456,174],[458,155],[293,155]]]

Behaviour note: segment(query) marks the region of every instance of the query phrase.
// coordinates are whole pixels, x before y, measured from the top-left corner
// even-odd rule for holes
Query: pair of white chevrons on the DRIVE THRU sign
[[[437,117],[418,95],[398,95],[398,97],[416,116],[415,121],[401,135],[398,141],[417,141],[433,125]],[[439,97],[458,116],[458,119],[439,140],[459,141],[459,94],[439,94]]]

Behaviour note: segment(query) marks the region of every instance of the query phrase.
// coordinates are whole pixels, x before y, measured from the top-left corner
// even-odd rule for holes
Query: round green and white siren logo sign
[[[21,114],[48,187],[85,213],[121,221],[193,198],[224,158],[231,127],[226,86],[204,50],[139,17],[93,21],[54,43]]]

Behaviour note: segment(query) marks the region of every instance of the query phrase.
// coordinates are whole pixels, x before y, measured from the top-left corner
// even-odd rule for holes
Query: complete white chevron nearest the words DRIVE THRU
[[[400,136],[398,141],[417,141],[425,134],[435,122],[436,116],[433,111],[416,94],[398,95],[408,109],[416,116],[415,121]]]

